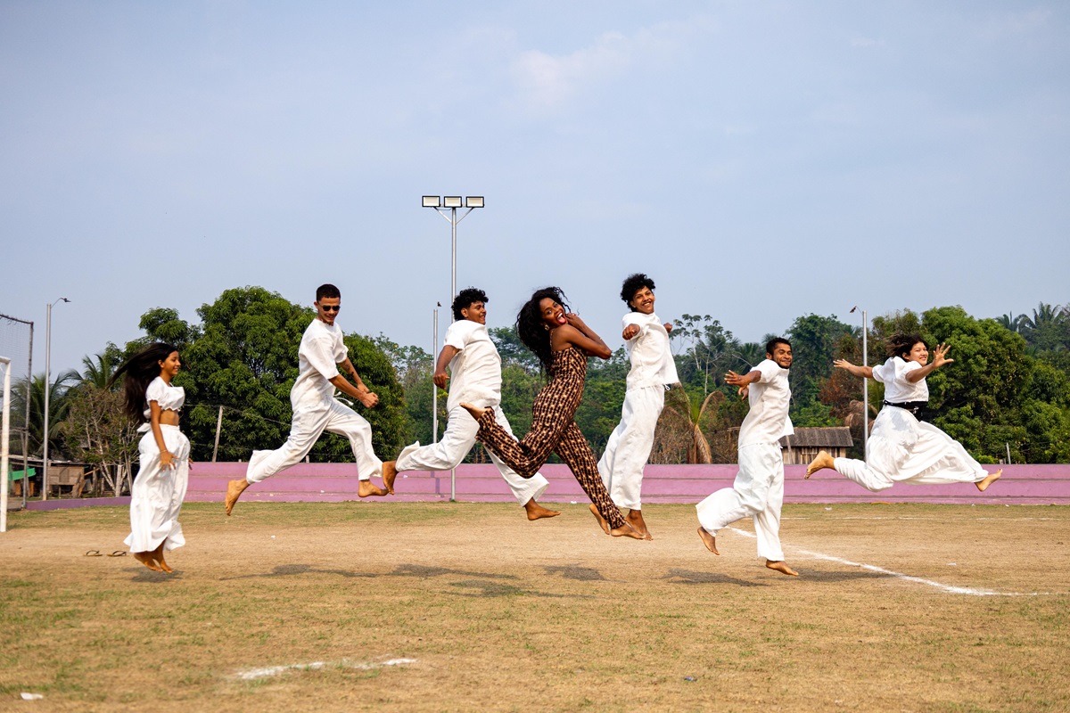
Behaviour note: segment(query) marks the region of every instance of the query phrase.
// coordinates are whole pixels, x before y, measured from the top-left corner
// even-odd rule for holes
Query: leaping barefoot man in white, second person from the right
[[[699,537],[706,549],[717,552],[717,531],[730,523],[750,516],[754,521],[758,556],[765,565],[793,577],[798,572],[784,561],[780,547],[780,508],[784,501],[784,462],[781,436],[794,433],[788,409],[792,391],[788,370],[792,345],[786,339],[770,339],[765,360],[745,376],[730,371],[724,381],[749,397],[750,412],[739,427],[739,472],[732,487],[724,487],[696,506]]]

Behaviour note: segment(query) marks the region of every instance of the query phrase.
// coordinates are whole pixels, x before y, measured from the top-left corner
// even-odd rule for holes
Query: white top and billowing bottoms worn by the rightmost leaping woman
[[[921,369],[917,361],[891,357],[873,368],[873,378],[885,385],[885,401],[929,401],[926,379],[911,384],[906,376]],[[877,493],[897,482],[916,484],[977,483],[989,475],[962,444],[913,413],[885,405],[873,421],[866,461],[838,458],[837,472]]]

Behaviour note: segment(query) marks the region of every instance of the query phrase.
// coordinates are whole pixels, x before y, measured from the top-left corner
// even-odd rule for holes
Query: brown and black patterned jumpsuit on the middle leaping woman
[[[583,397],[586,374],[587,357],[583,352],[574,346],[554,352],[550,358],[550,383],[535,397],[528,435],[518,443],[494,420],[494,410],[488,408],[479,419],[475,437],[523,478],[538,472],[550,451],[556,451],[601,516],[616,529],[625,526],[624,515],[610,499],[598,475],[598,461],[572,420]]]

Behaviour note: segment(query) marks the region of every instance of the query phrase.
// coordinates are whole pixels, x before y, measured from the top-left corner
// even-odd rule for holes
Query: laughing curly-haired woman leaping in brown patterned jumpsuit
[[[583,396],[587,357],[608,359],[612,352],[601,337],[584,324],[578,314],[567,311],[559,288],[544,288],[520,308],[517,334],[535,353],[549,382],[532,405],[532,428],[519,443],[494,420],[490,408],[462,403],[479,422],[476,439],[494,452],[518,475],[531,478],[555,451],[568,464],[583,492],[591,498],[591,512],[601,528],[613,537],[641,540],[610,499],[598,475],[598,461],[574,416]]]

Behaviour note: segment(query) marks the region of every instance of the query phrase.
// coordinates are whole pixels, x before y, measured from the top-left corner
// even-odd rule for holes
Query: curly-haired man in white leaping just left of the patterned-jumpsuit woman
[[[446,410],[449,421],[442,440],[421,446],[419,441],[407,446],[397,461],[383,464],[384,482],[394,492],[394,479],[398,470],[449,470],[456,467],[475,445],[475,434],[479,424],[460,407],[462,401],[482,408],[493,408],[495,420],[509,435],[513,431],[500,405],[502,401],[502,357],[487,334],[487,299],[483,290],[469,288],[454,299],[455,322],[446,329],[446,336],[439,359],[434,365],[433,381],[440,389],[453,374]],[[449,374],[446,373],[446,366]],[[490,451],[488,451],[490,453]],[[541,474],[522,478],[496,455],[490,453],[502,478],[509,485],[517,502],[524,507],[528,520],[553,517],[561,513],[547,510],[536,500],[550,484]]]

